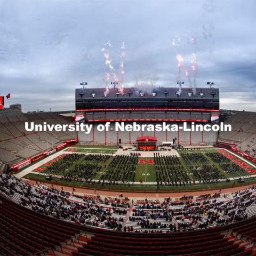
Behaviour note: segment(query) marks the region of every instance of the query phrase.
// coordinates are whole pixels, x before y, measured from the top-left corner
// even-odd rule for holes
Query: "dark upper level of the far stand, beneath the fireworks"
[[[76,111],[105,110],[219,110],[219,89],[198,88],[193,95],[190,88],[155,87],[140,90],[135,87],[124,88],[124,93],[117,88],[76,89]],[[159,109],[157,109],[159,108]]]

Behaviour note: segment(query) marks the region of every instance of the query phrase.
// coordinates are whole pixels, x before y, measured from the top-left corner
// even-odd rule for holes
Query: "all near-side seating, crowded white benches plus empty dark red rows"
[[[31,186],[12,175],[1,174],[0,254],[39,255],[40,251],[57,250],[56,246],[65,241],[74,241],[82,231],[89,233],[90,238],[79,245],[78,252],[73,251],[74,256],[250,255],[253,247],[240,246],[237,241],[239,242],[239,237],[255,237],[255,191],[256,188],[251,187],[230,195],[221,196],[215,193],[198,196],[196,199],[183,196],[177,202],[166,198],[162,204],[158,201],[138,201],[132,206],[132,211],[127,211],[130,207],[128,199],[121,201],[113,198],[102,201],[95,196],[75,196],[44,185]],[[62,202],[63,206],[56,202]],[[57,213],[56,209],[68,209],[71,213],[75,209],[73,204],[75,208],[86,205],[87,210],[98,209],[97,212],[112,209],[107,216],[125,219],[119,224],[122,229],[125,227],[126,232],[109,230],[118,229],[117,226],[108,226],[107,220],[102,222],[102,217],[94,215],[91,210],[89,211],[92,215],[87,216],[85,222],[81,221],[82,215],[76,218],[73,214],[54,214]],[[172,212],[171,220],[164,217],[166,211]],[[178,217],[186,217],[188,212],[195,216],[203,213],[203,219],[198,222],[209,222],[207,228],[205,225],[197,227],[198,222],[193,222],[192,218],[186,219],[186,222],[192,221],[193,224],[189,229],[185,228],[181,224],[182,218]],[[214,212],[218,213],[219,218],[211,222]],[[230,222],[232,217],[233,221]],[[132,218],[145,218],[149,222],[161,224],[152,228],[142,227]],[[221,221],[224,219],[225,221]],[[227,236],[227,230],[231,229],[237,234],[234,239]]]

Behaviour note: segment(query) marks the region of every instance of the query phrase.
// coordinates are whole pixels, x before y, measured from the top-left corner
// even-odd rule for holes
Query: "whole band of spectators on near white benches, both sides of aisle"
[[[129,198],[78,196],[53,187],[32,186],[13,175],[0,175],[0,192],[36,212],[57,219],[124,231],[185,231],[227,225],[255,215],[256,186],[231,195],[220,193],[194,197],[182,196],[178,201],[165,198],[136,202]],[[123,224],[128,218],[130,225]],[[134,223],[134,224],[132,224]]]

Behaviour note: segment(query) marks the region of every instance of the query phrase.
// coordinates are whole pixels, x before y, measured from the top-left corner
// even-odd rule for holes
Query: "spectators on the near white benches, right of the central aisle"
[[[169,227],[169,231],[174,231],[174,227],[175,231],[185,231],[227,225],[256,214],[255,191],[253,186],[222,197],[220,193],[201,195],[195,200],[183,196],[177,202],[166,198],[161,204],[145,199],[143,203],[134,204],[129,221],[137,222],[141,229]]]

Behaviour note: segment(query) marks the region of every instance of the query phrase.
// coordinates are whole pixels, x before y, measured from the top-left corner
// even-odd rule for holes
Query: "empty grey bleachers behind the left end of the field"
[[[75,139],[76,132],[28,132],[25,122],[35,124],[65,124],[65,117],[55,113],[0,114],[0,161],[17,162],[38,155],[62,141]]]

